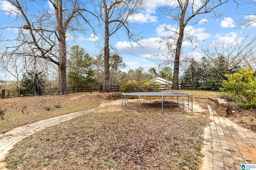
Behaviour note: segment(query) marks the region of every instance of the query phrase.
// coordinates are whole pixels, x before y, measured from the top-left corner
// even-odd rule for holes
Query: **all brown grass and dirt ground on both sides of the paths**
[[[0,120],[2,135],[20,125],[107,103],[106,107],[20,141],[5,160],[7,168],[200,169],[203,129],[209,125],[208,100],[195,100],[193,111],[186,106],[182,114],[167,115],[161,113],[159,100],[142,101],[141,113],[110,104],[118,102],[121,100],[105,100],[102,94],[0,100],[0,108],[6,109],[5,120]],[[228,119],[256,131],[254,110],[240,109],[232,102],[228,106]],[[138,103],[133,101],[128,108],[138,110]],[[175,102],[164,102],[164,112],[170,110],[181,111]]]

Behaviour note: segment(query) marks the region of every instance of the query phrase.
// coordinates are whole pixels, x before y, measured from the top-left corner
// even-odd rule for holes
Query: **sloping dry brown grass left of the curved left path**
[[[97,94],[66,94],[2,99],[0,109],[5,114],[4,120],[0,120],[0,134],[51,117],[96,108],[100,98]]]

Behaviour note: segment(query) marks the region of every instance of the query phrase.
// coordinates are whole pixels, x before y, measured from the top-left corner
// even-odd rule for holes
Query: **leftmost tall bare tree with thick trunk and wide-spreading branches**
[[[84,12],[90,13],[85,4],[78,0],[49,0],[51,9],[44,9],[44,0],[7,0],[14,8],[10,10],[9,26],[18,28],[17,37],[9,41],[4,55],[18,54],[41,58],[58,66],[58,86],[56,94],[67,94],[66,84],[66,38],[67,31],[85,30],[89,23]],[[35,4],[36,3],[36,4]],[[36,8],[35,8],[36,6]],[[16,22],[15,22],[16,21]],[[85,21],[82,23],[81,21]],[[6,25],[6,24],[5,24]]]

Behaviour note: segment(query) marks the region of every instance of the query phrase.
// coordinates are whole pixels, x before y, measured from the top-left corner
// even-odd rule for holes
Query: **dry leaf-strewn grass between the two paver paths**
[[[9,169],[196,170],[206,122],[207,112],[163,115],[154,106],[143,113],[108,106],[34,133],[5,161]]]

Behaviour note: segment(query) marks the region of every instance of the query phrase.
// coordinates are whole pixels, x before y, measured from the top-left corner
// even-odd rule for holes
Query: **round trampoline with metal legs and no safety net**
[[[137,97],[137,102],[139,104],[139,111],[135,111],[135,110],[127,110],[126,106],[128,104],[128,96],[136,96]],[[159,96],[162,97],[162,113],[163,114],[169,114],[169,113],[178,113],[178,112],[169,112],[169,113],[164,113],[164,98],[167,96],[176,96],[177,97],[177,104],[179,103],[178,98],[182,97],[182,111],[181,113],[183,113],[183,109],[184,109],[184,97],[188,98],[188,108],[192,111],[193,109],[193,96],[192,94],[188,94],[188,93],[173,93],[173,92],[130,92],[130,93],[122,93],[122,107],[124,107],[124,109],[126,111],[134,111],[136,113],[140,113],[141,108],[140,108],[140,97],[141,96],[149,96],[150,97],[150,102],[151,102],[151,97],[152,96]],[[191,98],[191,108],[189,105],[189,99]],[[123,100],[124,100],[124,105],[123,105]]]

